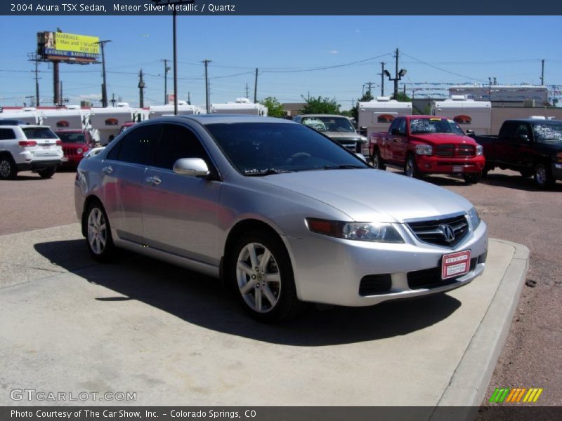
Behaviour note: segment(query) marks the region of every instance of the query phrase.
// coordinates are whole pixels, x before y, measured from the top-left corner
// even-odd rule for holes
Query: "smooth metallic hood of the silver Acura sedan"
[[[360,222],[404,222],[466,212],[471,203],[428,182],[374,169],[302,171],[260,178]]]

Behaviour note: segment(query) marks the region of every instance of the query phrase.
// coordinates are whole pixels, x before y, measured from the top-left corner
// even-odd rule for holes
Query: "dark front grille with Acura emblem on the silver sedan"
[[[469,222],[465,215],[457,215],[451,218],[423,220],[407,222],[414,235],[424,243],[436,246],[455,247],[469,234]],[[454,239],[447,241],[445,238],[446,227],[452,228]]]

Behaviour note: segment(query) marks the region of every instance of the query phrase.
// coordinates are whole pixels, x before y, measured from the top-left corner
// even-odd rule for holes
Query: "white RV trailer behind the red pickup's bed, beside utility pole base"
[[[377,97],[367,102],[358,102],[358,127],[367,130],[367,139],[371,133],[388,131],[394,117],[412,114],[412,102],[398,102],[390,97]]]

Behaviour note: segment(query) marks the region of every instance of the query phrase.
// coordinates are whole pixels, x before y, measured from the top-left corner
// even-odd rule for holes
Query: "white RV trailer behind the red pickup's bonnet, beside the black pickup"
[[[464,95],[432,101],[431,115],[455,120],[464,131],[471,130],[476,135],[489,135],[492,127],[492,103],[467,100]]]

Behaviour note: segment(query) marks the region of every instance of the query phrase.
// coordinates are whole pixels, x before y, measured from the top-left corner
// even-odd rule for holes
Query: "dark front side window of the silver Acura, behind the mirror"
[[[181,158],[201,158],[209,165],[209,157],[200,140],[189,128],[164,124],[156,150],[154,166],[171,170]]]

